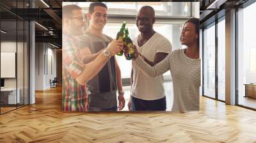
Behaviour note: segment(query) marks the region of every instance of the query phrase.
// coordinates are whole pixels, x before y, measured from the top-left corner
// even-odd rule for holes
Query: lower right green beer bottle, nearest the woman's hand
[[[129,31],[128,28],[125,29],[125,36],[124,36],[124,55],[125,59],[131,60],[133,57],[135,57],[135,51],[133,48],[132,40],[129,37]]]

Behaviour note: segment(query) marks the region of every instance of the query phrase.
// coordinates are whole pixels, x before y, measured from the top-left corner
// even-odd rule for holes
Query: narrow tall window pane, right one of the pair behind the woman
[[[225,17],[218,22],[218,99],[225,101]]]

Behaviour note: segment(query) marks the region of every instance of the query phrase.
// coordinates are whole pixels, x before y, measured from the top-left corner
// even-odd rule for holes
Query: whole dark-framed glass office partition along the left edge
[[[1,1],[1,4],[10,6],[13,10],[27,8],[27,3],[28,1]],[[3,114],[29,103],[29,22],[3,8],[0,8],[0,15],[0,114]]]

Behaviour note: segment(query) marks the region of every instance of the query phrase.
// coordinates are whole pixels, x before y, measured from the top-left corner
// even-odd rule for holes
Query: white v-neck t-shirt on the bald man
[[[170,53],[172,51],[170,41],[159,33],[155,33],[151,36],[151,38],[141,47],[138,45],[138,36],[136,36],[133,40],[133,44],[136,45],[138,52],[149,61],[154,61],[157,52]],[[132,70],[132,96],[142,100],[157,100],[165,96],[163,75],[148,77],[134,63],[132,63]]]

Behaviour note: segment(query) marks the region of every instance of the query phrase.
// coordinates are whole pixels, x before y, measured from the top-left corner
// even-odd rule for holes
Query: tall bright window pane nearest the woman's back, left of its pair
[[[215,98],[215,24],[204,29],[204,96]]]

